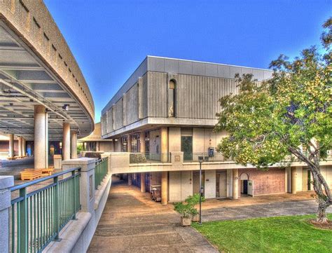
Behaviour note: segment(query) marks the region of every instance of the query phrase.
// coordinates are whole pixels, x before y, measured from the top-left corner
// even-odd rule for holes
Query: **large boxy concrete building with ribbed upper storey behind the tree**
[[[304,163],[275,165],[263,172],[216,152],[227,134],[213,131],[221,109],[218,100],[237,93],[236,73],[251,73],[262,81],[272,72],[146,57],[102,110],[102,137],[113,139],[116,151],[111,155],[112,172],[127,173],[128,183],[141,191],[161,186],[162,203],[199,192],[199,156],[205,159],[205,198],[310,191],[310,172]],[[332,186],[332,160],[322,165]]]

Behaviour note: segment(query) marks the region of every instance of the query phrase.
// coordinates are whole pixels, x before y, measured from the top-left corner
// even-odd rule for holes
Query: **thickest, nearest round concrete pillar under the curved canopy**
[[[43,105],[34,106],[34,168],[48,167],[48,113]]]

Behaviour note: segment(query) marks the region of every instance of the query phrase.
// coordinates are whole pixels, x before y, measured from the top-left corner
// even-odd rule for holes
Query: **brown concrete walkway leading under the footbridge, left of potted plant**
[[[88,252],[217,252],[195,229],[180,226],[172,205],[113,180]]]

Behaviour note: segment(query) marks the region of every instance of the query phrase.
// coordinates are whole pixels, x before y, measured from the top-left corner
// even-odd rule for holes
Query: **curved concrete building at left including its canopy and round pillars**
[[[31,142],[35,168],[48,167],[60,142],[63,159],[75,158],[77,135],[94,129],[90,90],[43,1],[0,1],[0,97],[9,156],[14,139],[18,156]]]

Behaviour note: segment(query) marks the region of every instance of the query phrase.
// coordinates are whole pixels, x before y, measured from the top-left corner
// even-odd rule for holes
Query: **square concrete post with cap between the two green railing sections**
[[[62,170],[81,167],[80,200],[82,212],[95,215],[95,158],[76,158],[62,161]]]

